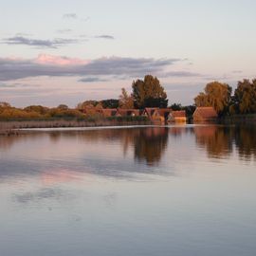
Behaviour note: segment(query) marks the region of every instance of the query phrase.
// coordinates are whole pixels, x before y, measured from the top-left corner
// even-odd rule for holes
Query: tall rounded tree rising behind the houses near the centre
[[[134,81],[132,87],[133,98],[138,108],[167,107],[166,92],[156,77],[147,75],[143,81]]]

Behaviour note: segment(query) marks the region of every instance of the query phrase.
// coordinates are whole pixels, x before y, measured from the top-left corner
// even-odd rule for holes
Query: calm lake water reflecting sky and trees
[[[256,127],[0,137],[0,255],[256,255]]]

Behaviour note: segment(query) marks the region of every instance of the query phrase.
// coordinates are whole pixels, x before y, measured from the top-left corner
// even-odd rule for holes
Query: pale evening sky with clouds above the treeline
[[[256,78],[255,0],[0,0],[0,101],[70,107],[156,76],[169,104]]]

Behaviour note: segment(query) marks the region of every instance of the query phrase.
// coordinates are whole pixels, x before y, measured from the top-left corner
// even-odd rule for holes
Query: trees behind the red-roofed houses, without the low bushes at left
[[[129,94],[124,88],[121,89],[119,100],[107,101],[84,101],[80,104],[84,107],[88,104],[102,106],[103,108],[145,108],[145,107],[168,107],[167,94],[164,87],[156,77],[147,75],[144,80],[132,83],[132,92]],[[210,82],[204,92],[194,98],[194,104],[182,106],[180,103],[169,105],[173,110],[185,110],[188,117],[197,106],[212,106],[220,117],[234,114],[256,113],[256,79],[243,80],[237,83],[232,94],[232,88],[227,83]]]

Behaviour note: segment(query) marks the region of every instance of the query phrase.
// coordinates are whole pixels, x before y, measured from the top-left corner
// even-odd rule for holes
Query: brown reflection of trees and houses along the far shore
[[[196,145],[206,150],[211,158],[225,158],[233,152],[241,159],[256,158],[256,126],[246,124],[23,132],[19,136],[0,137],[0,151],[9,151],[19,141],[25,143],[38,139],[40,142],[40,139],[49,137],[50,147],[66,141],[72,145],[75,140],[79,140],[84,148],[98,143],[103,151],[105,144],[113,144],[121,147],[124,157],[132,153],[137,162],[155,166],[166,151],[168,137],[181,139],[185,134],[194,136]]]

